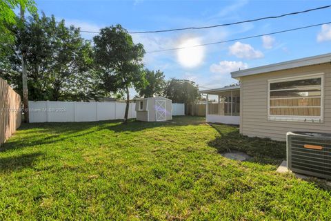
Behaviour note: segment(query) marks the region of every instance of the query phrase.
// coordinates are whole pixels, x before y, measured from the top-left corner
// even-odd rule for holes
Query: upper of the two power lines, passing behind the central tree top
[[[173,29],[165,29],[165,30],[147,30],[147,31],[128,32],[128,33],[129,34],[146,34],[146,33],[158,33],[158,32],[173,32],[173,31],[178,31],[178,30],[199,30],[199,29],[205,29],[205,28],[217,28],[217,27],[221,27],[221,26],[237,25],[239,23],[248,23],[248,22],[252,22],[252,21],[261,21],[261,20],[265,20],[265,19],[279,19],[281,17],[286,17],[286,16],[289,16],[289,15],[298,15],[298,14],[312,12],[312,11],[315,11],[315,10],[322,10],[322,9],[330,8],[330,7],[331,7],[331,5],[329,5],[329,6],[321,6],[319,8],[310,8],[308,10],[303,10],[303,11],[299,11],[299,12],[290,12],[290,13],[286,13],[286,14],[283,14],[283,15],[261,17],[259,19],[250,19],[250,20],[245,20],[245,21],[237,21],[237,22],[233,22],[233,23],[223,23],[223,24],[218,24],[218,25],[214,25],[214,26],[201,26],[201,27],[188,27],[188,28],[173,28]],[[90,31],[90,30],[81,30],[81,32],[97,33],[97,34],[99,33],[99,32]]]

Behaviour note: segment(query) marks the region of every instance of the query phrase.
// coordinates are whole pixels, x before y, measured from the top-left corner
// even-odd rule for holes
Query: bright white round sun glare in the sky
[[[177,51],[177,58],[182,66],[187,68],[194,68],[202,63],[204,57],[204,48],[192,47],[199,44],[201,44],[199,38],[190,38],[181,41],[181,44],[179,44],[178,47],[185,48]]]

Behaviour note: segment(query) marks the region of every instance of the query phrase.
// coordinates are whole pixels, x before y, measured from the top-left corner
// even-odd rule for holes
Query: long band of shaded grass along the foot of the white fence
[[[130,119],[128,124],[122,120],[108,120],[99,122],[66,122],[66,123],[33,123],[22,124],[17,133],[23,137],[12,137],[3,144],[0,152],[6,152],[12,149],[28,148],[30,146],[52,144],[54,142],[63,142],[65,140],[83,137],[89,133],[96,133],[101,130],[109,130],[114,133],[137,132],[150,128],[162,126],[188,126],[203,124],[204,117],[173,117],[172,121],[167,122],[139,122]]]

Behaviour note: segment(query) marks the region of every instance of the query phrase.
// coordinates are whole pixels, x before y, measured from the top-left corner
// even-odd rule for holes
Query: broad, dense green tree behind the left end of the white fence
[[[80,36],[79,28],[68,28],[54,16],[34,15],[26,19],[24,28],[13,26],[12,31],[16,41],[10,45],[12,53],[0,61],[0,68],[17,91],[22,90],[23,52],[30,99],[88,100],[97,96],[92,46]]]

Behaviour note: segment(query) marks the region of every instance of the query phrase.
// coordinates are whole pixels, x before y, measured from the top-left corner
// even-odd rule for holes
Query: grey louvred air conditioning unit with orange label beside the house
[[[331,179],[331,134],[288,132],[286,137],[288,169]]]

